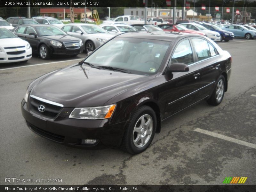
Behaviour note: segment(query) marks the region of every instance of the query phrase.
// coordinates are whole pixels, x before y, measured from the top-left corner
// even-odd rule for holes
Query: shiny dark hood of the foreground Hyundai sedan
[[[33,82],[30,94],[64,107],[103,106],[131,86],[148,82],[148,78],[154,77],[75,65]]]

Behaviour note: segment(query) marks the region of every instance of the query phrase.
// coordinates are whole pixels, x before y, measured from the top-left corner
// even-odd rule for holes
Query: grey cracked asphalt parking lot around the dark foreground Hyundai
[[[162,123],[150,147],[132,156],[118,148],[77,149],[46,140],[25,124],[20,102],[36,77],[85,57],[0,66],[0,185],[221,185],[226,177],[256,183],[256,40],[220,47],[232,56],[228,92],[217,107],[205,101]],[[67,61],[68,60],[68,61]],[[37,65],[40,64],[40,65]],[[6,183],[61,179],[61,183]]]

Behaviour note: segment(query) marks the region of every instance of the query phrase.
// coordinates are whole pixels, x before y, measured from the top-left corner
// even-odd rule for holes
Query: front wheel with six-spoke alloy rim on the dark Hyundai
[[[145,151],[156,132],[156,113],[148,106],[136,109],[125,127],[121,148],[132,154]]]

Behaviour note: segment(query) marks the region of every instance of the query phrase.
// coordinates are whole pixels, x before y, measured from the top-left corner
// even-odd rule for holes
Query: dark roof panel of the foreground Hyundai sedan
[[[173,42],[177,38],[197,36],[203,37],[197,34],[188,34],[182,32],[167,32],[167,31],[134,31],[126,32],[118,35],[117,37],[128,37],[128,38],[141,38],[141,39],[152,39]]]

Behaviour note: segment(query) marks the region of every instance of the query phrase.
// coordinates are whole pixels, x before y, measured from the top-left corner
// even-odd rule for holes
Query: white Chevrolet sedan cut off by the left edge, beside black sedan
[[[32,49],[27,41],[0,27],[0,63],[26,62],[31,56]]]

